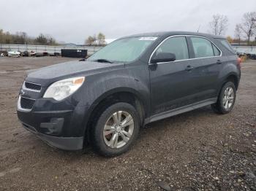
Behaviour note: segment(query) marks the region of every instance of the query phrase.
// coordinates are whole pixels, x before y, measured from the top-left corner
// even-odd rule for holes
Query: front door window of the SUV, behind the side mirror
[[[171,37],[163,42],[155,54],[159,52],[169,52],[176,55],[176,61],[189,58],[189,50],[187,49],[187,40],[184,36]]]

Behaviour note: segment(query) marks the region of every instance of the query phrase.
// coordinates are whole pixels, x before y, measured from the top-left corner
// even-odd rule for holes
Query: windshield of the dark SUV
[[[138,58],[156,40],[155,36],[137,36],[118,39],[91,55],[88,61],[131,62]]]

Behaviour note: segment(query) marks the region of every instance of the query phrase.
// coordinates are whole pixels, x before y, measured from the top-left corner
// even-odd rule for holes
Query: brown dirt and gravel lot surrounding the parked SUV
[[[206,106],[151,123],[104,158],[49,147],[18,122],[26,72],[70,60],[0,58],[0,190],[256,190],[256,61],[243,63],[230,114]]]

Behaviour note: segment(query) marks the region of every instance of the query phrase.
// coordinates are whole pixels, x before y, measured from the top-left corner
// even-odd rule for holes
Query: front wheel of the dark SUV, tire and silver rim
[[[92,147],[105,157],[121,155],[135,142],[139,130],[140,118],[135,107],[123,102],[113,104],[99,115],[91,127]]]

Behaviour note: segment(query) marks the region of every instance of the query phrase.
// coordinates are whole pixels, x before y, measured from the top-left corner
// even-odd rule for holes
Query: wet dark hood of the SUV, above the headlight
[[[48,86],[52,82],[76,76],[86,76],[102,71],[124,67],[124,63],[99,63],[91,61],[70,61],[32,71],[26,81]]]

